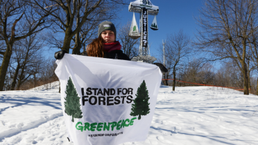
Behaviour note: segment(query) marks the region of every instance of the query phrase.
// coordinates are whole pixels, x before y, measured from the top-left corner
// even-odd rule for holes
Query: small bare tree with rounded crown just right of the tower
[[[191,53],[190,37],[182,30],[167,35],[165,44],[166,67],[173,73],[173,91],[175,90],[175,75],[179,66],[186,62]]]

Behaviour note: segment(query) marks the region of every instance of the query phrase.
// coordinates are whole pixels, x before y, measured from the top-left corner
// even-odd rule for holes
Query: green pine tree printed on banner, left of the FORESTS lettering
[[[67,94],[67,97],[65,97],[65,113],[71,116],[71,122],[74,122],[74,118],[83,117],[83,112],[80,110],[80,97],[78,97],[71,77],[69,77],[67,82],[67,90],[65,93]]]

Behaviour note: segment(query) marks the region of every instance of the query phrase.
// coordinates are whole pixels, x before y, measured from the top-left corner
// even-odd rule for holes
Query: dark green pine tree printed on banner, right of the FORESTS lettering
[[[147,115],[150,113],[150,107],[148,106],[148,90],[145,81],[142,81],[141,85],[137,89],[136,98],[133,100],[131,108],[131,116],[139,115],[138,119],[141,119],[141,115]]]

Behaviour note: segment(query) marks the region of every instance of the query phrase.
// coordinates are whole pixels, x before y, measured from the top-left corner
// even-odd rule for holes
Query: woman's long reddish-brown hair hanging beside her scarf
[[[104,57],[103,43],[105,43],[105,41],[101,35],[99,35],[98,38],[94,39],[92,43],[89,43],[87,46],[87,55],[90,57]]]

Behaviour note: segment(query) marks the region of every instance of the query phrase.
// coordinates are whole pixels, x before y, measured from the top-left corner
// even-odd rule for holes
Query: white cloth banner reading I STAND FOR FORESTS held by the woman
[[[56,63],[71,142],[144,142],[162,79],[157,66],[69,54]]]

